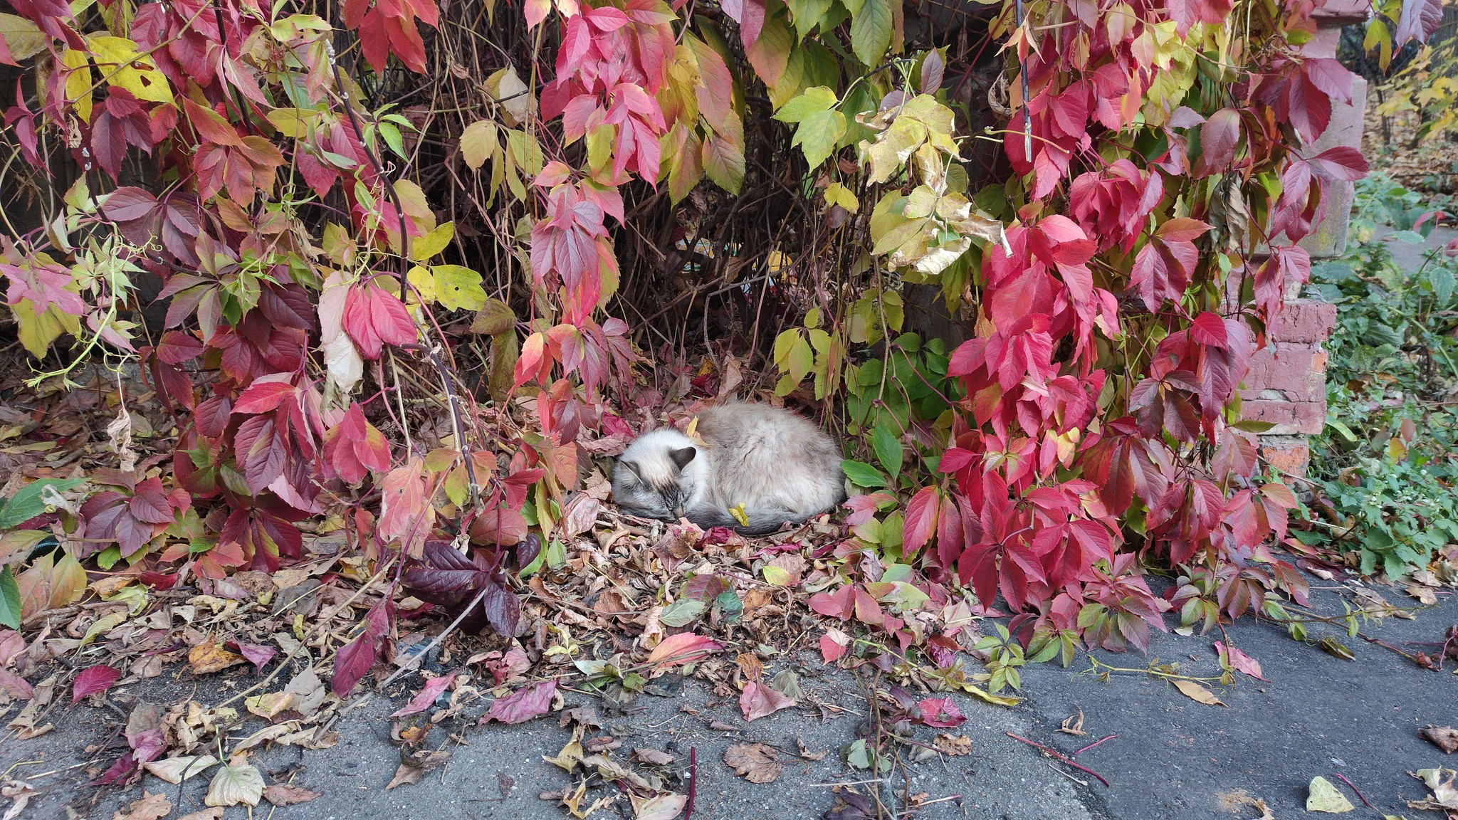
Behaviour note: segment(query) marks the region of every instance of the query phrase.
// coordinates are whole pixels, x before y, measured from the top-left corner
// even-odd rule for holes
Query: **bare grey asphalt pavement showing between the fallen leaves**
[[[1397,606],[1411,603],[1395,591],[1384,594]],[[1318,592],[1315,603],[1324,611],[1341,611],[1331,592]],[[1407,641],[1441,641],[1443,629],[1454,623],[1458,623],[1458,600],[1443,595],[1439,606],[1420,613],[1417,620],[1389,617],[1363,626],[1363,632],[1403,646]],[[1403,802],[1403,798],[1423,795],[1422,785],[1406,772],[1452,765],[1417,735],[1427,724],[1458,724],[1458,676],[1451,661],[1445,671],[1424,671],[1385,648],[1360,638],[1347,639],[1327,624],[1314,624],[1314,638],[1340,636],[1356,655],[1354,661],[1298,643],[1283,630],[1250,619],[1228,627],[1228,633],[1236,646],[1261,662],[1268,680],[1242,676],[1235,686],[1216,687],[1226,708],[1197,703],[1147,674],[1114,674],[1101,683],[1094,674],[1077,674],[1089,667],[1086,658],[1075,661],[1070,670],[1029,667],[1024,673],[1028,699],[1012,709],[959,699],[968,722],[952,731],[971,740],[972,753],[908,762],[907,769],[913,794],[927,792],[924,800],[961,798],[930,804],[919,816],[1009,820],[1254,817],[1257,813],[1250,808],[1239,814],[1222,811],[1229,797],[1244,789],[1267,800],[1274,816],[1286,819],[1306,816],[1303,802],[1312,776],[1322,775],[1341,785],[1338,773],[1356,784],[1381,813],[1420,816]],[[1101,654],[1101,660],[1140,668],[1158,660],[1178,662],[1182,674],[1213,676],[1219,674],[1212,649],[1216,638],[1161,635],[1149,658]],[[697,749],[694,817],[818,817],[833,804],[831,784],[868,779],[865,772],[849,769],[838,759],[841,747],[854,740],[866,705],[850,673],[825,674],[808,664],[799,671],[806,695],[818,695],[830,708],[816,713],[784,711],[745,724],[732,697],[714,697],[704,684],[691,681],[677,695],[640,696],[627,713],[604,713],[605,728],[595,734],[618,737],[623,754],[637,746],[675,754],[677,762],[663,769],[669,776],[687,773],[688,750]],[[169,681],[166,692],[155,692],[163,686],[157,681]],[[239,678],[239,683],[246,684],[246,680]],[[162,677],[144,681],[140,690],[114,690],[112,696],[121,702],[125,695],[162,700],[176,696],[179,689],[187,695],[191,686],[188,680]],[[567,703],[596,700],[569,692]],[[685,705],[698,715],[682,711]],[[277,808],[271,816],[299,820],[569,816],[554,808],[554,801],[538,797],[570,785],[564,772],[541,760],[570,740],[569,731],[558,728],[551,716],[518,727],[471,728],[464,732],[462,746],[440,731],[432,741],[455,750],[451,762],[418,784],[385,791],[399,763],[399,751],[389,743],[389,724],[383,719],[395,706],[398,703],[375,696],[350,712],[334,727],[341,741],[332,749],[277,747],[257,754],[254,762],[265,776],[286,781],[293,773],[295,785],[322,792],[316,801]],[[835,713],[834,708],[844,712]],[[1060,732],[1059,725],[1077,709],[1083,711],[1088,735]],[[714,719],[741,727],[741,731],[713,731],[709,722]],[[9,770],[9,778],[22,781],[34,778],[29,782],[42,789],[32,798],[25,817],[105,819],[140,797],[143,789],[166,789],[175,805],[174,817],[201,808],[208,776],[188,781],[181,797],[178,786],[152,776],[122,792],[98,792],[86,786],[79,775],[83,767],[69,772],[66,767],[96,757],[87,746],[115,732],[120,718],[106,709],[80,706],[58,709],[52,721],[55,731],[31,741],[7,741],[0,749],[0,772]],[[1105,776],[1110,786],[1076,784],[1075,776],[1089,778],[1009,738],[1005,734],[1009,731],[1064,753],[1117,734],[1077,757]],[[798,759],[796,737],[808,750],[830,754],[819,762]],[[917,737],[926,743],[932,732],[920,730]],[[722,762],[729,744],[755,741],[773,744],[783,753],[784,769],[774,784],[746,784]],[[36,776],[45,772],[58,773]],[[507,779],[510,786],[503,795]],[[1346,791],[1359,805],[1354,817],[1375,816],[1360,807],[1350,789]],[[101,798],[92,805],[96,794]],[[589,792],[589,798],[595,794],[607,792]],[[583,805],[588,802],[590,800]],[[254,816],[264,816],[264,808],[267,804]],[[625,801],[595,816],[615,817],[618,810],[631,817]],[[245,816],[241,808],[225,814]]]

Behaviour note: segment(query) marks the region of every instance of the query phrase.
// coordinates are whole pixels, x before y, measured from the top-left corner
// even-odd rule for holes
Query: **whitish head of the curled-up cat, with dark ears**
[[[677,521],[684,517],[700,483],[703,458],[678,430],[653,430],[637,438],[612,470],[612,499],[624,512]]]

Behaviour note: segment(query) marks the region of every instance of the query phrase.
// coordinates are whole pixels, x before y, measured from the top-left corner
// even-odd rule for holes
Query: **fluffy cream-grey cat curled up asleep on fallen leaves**
[[[665,428],[639,436],[612,471],[612,498],[630,515],[763,535],[846,499],[840,448],[809,420],[768,404],[698,413],[701,441]],[[744,521],[730,509],[741,508]]]

